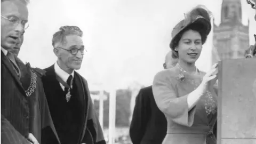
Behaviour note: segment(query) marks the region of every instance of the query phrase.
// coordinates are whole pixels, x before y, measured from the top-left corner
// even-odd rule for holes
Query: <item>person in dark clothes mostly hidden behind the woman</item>
[[[172,68],[178,60],[172,58],[172,52],[166,54],[164,69]],[[140,90],[135,100],[130,137],[133,144],[160,144],[164,140],[167,121],[156,106],[152,86]]]

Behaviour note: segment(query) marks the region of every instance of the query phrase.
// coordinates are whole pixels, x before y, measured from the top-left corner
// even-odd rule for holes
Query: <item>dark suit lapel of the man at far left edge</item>
[[[13,76],[13,78],[15,79],[15,81],[18,83],[20,89],[22,90],[22,93],[24,93],[26,95],[25,90],[23,89],[22,84],[20,82],[20,79],[12,67],[11,62],[8,60],[8,58],[4,55],[4,53],[2,51],[1,51],[1,60],[2,60],[2,63],[6,66],[6,68],[10,71],[10,73]]]

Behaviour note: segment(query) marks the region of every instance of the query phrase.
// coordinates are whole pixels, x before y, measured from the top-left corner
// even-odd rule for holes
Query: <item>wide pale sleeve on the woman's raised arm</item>
[[[188,109],[188,94],[177,95],[170,71],[161,71],[156,74],[153,82],[153,94],[157,107],[171,118],[173,122],[183,126],[191,126],[194,123],[195,107]]]

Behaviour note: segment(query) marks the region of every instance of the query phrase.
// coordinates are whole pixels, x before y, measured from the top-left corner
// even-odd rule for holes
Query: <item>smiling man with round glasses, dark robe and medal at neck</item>
[[[106,143],[95,115],[86,80],[75,70],[81,68],[86,52],[83,31],[76,26],[63,26],[53,35],[52,46],[57,62],[45,69],[44,90],[60,142]],[[46,143],[54,143],[47,131]]]

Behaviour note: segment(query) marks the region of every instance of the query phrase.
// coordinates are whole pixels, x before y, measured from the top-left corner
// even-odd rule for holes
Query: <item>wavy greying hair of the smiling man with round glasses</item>
[[[77,27],[77,26],[63,26],[59,28],[59,31],[57,31],[55,34],[53,34],[52,37],[52,46],[54,47],[56,43],[66,43],[66,36],[69,35],[77,35],[82,37],[83,31]]]

